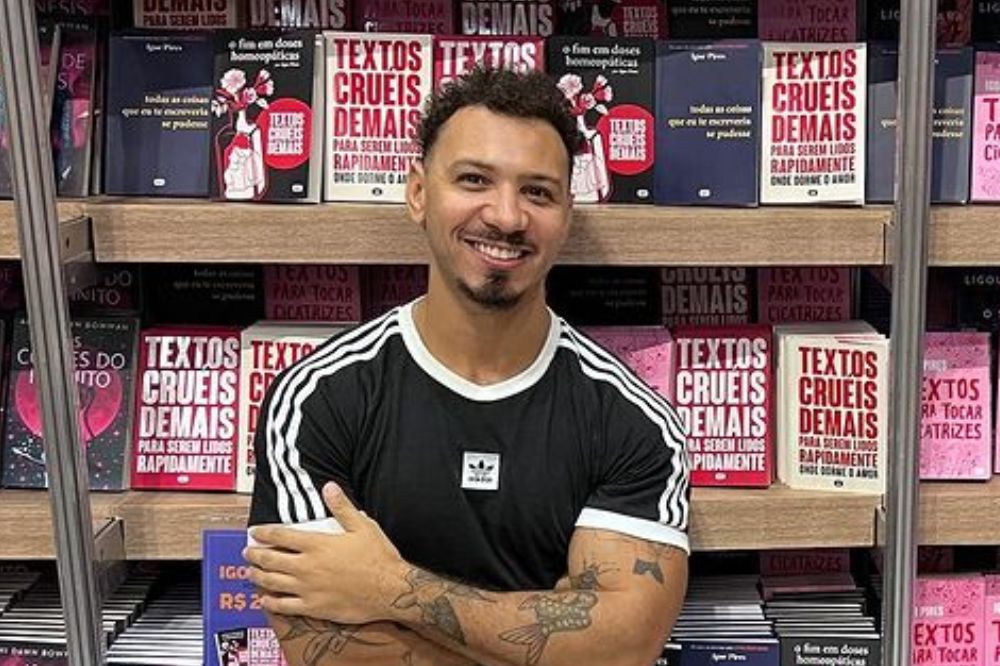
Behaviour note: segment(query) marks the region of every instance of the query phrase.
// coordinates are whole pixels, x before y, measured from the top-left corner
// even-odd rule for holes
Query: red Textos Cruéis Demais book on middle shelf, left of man
[[[239,381],[239,329],[143,331],[132,487],[234,490]]]

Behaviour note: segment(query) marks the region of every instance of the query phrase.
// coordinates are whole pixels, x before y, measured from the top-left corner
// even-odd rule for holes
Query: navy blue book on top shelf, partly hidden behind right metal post
[[[898,50],[869,45],[868,180],[869,203],[893,201],[896,150]],[[972,152],[971,47],[941,49],[934,59],[934,134],[931,142],[931,201],[966,203]]]

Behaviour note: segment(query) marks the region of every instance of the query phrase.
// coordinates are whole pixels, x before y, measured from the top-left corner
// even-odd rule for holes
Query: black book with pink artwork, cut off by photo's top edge
[[[667,37],[667,7],[658,0],[562,2],[557,21],[561,35]]]

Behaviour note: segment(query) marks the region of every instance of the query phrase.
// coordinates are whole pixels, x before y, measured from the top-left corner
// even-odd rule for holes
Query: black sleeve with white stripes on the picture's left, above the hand
[[[250,526],[325,518],[323,485],[350,488],[353,437],[331,407],[330,386],[316,381],[317,371],[307,363],[293,366],[275,379],[261,405]]]

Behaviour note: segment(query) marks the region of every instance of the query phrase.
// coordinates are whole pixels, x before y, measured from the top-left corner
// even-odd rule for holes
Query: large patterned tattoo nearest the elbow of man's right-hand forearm
[[[521,602],[521,610],[535,611],[535,624],[511,629],[500,634],[500,640],[515,645],[527,645],[528,666],[535,666],[549,636],[559,632],[582,631],[590,626],[590,609],[597,605],[597,595],[587,590],[533,594]]]

